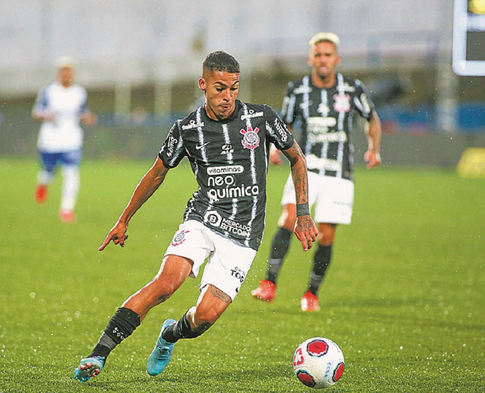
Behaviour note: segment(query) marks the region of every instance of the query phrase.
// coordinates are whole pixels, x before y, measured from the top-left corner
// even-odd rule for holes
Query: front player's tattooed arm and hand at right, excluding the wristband
[[[308,208],[308,172],[305,155],[296,141],[292,147],[284,150],[283,154],[290,161],[296,204],[307,205]],[[311,248],[312,242],[316,240],[318,234],[317,227],[309,214],[297,215],[294,232],[298,240],[302,243],[304,251]]]

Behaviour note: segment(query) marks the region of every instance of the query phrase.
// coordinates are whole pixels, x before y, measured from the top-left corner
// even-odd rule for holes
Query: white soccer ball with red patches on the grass
[[[342,376],[343,353],[339,345],[323,337],[313,337],[301,343],[293,355],[293,371],[310,388],[332,386]]]

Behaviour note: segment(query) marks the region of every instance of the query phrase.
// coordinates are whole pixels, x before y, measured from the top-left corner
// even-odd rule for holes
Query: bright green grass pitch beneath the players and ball
[[[263,244],[220,320],[180,341],[161,376],[146,374],[163,320],[194,305],[198,280],[189,278],[99,377],[73,381],[109,317],[157,272],[196,189],[181,164],[132,219],[127,246],[97,251],[151,164],[85,161],[69,225],[58,217],[60,174],[37,206],[36,162],[0,160],[0,392],[308,392],[291,360],[314,336],[331,338],[345,356],[331,392],[484,392],[485,181],[389,167],[356,171],[353,223],[337,231],[320,312],[300,311],[313,252],[296,239],[275,303],[250,297],[288,174],[272,167]]]

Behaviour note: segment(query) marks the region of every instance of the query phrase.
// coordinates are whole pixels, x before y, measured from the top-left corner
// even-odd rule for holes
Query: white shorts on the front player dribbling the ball
[[[212,284],[234,300],[253,263],[256,250],[227,239],[198,221],[188,220],[178,226],[163,260],[168,255],[192,260],[192,278],[197,277],[200,267],[209,257],[199,290]]]

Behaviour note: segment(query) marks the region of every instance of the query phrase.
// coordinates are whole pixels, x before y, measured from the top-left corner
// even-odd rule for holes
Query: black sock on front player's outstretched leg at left
[[[114,347],[126,339],[133,330],[140,326],[140,315],[135,311],[120,307],[110,319],[108,326],[104,329],[91,356],[108,357]]]

